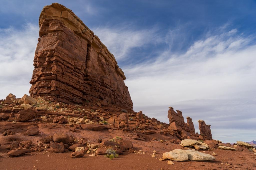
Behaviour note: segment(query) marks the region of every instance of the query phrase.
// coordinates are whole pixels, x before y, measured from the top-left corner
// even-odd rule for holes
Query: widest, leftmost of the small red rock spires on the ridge
[[[168,110],[168,119],[169,119],[169,124],[176,122],[177,125],[179,125],[182,130],[185,130],[185,122],[184,122],[184,117],[182,116],[182,112],[179,110],[176,110],[177,113],[173,110],[173,107],[169,107]]]

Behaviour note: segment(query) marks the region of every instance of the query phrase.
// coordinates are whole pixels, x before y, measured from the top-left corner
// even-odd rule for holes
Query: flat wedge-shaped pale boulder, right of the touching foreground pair
[[[215,160],[215,157],[206,153],[201,153],[198,151],[194,151],[194,150],[186,150],[187,154],[188,154],[188,159],[190,161],[211,161],[211,160]]]

